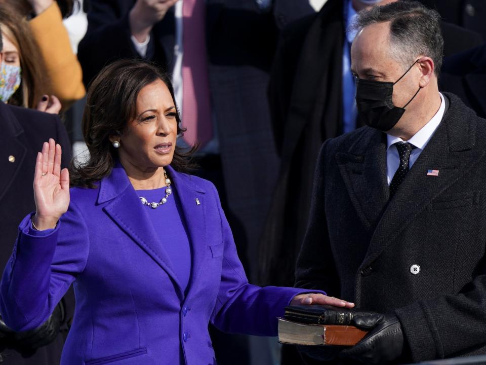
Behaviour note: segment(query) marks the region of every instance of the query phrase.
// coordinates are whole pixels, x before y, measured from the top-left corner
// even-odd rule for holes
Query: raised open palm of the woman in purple
[[[44,142],[37,154],[34,173],[35,215],[32,222],[39,230],[56,227],[69,206],[69,172],[61,171],[61,146],[54,139]]]

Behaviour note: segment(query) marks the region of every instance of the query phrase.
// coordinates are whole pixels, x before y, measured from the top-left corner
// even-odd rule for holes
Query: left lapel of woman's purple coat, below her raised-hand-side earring
[[[106,201],[109,203],[103,207],[103,210],[168,273],[183,298],[184,292],[173,270],[170,257],[150,222],[150,217],[144,209],[146,206],[140,203],[121,165],[115,166],[110,176],[101,181],[98,203]]]

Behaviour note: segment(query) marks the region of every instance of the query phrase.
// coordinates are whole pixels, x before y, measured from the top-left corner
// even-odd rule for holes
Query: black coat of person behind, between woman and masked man
[[[264,285],[293,285],[320,145],[341,134],[344,27],[342,0],[329,0],[281,34],[269,87],[281,166],[261,240]]]

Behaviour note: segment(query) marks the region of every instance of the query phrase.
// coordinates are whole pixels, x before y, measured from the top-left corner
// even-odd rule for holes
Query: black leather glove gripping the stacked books
[[[387,363],[400,357],[403,352],[403,333],[398,318],[393,314],[374,314],[355,317],[354,324],[371,330],[353,347],[339,353],[366,363]]]

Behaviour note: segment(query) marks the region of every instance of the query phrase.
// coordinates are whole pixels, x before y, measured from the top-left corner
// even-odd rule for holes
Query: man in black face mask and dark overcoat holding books
[[[398,1],[356,28],[367,126],[322,145],[296,285],[377,312],[337,363],[484,354],[486,121],[438,91],[435,11]]]

